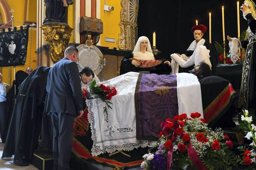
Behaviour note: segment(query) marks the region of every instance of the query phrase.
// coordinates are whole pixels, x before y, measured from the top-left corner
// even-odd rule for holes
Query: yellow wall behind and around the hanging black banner
[[[25,9],[25,0],[6,0],[10,10],[13,9],[15,12],[13,12],[14,20],[19,21],[19,22],[24,22],[24,9]],[[30,1],[32,3],[32,6],[36,6],[36,0]],[[29,15],[34,15],[36,16],[36,9],[33,9],[29,12]],[[36,17],[31,17],[31,22],[36,23]],[[32,21],[33,20],[33,21]],[[22,24],[14,22],[14,26],[21,26]],[[29,67],[29,50],[30,50],[30,29],[29,29],[29,35],[28,35],[28,53],[27,53],[27,59],[24,67],[16,67],[16,72],[18,70],[23,70],[27,67]],[[32,48],[31,48],[31,64],[30,67],[33,68],[33,70],[36,68],[36,30],[32,31]],[[33,62],[34,60],[34,62]],[[11,74],[11,82],[14,80],[14,69],[12,68],[12,74]],[[3,81],[5,83],[10,83],[8,81],[9,79],[9,68],[2,68],[2,74],[3,74]]]

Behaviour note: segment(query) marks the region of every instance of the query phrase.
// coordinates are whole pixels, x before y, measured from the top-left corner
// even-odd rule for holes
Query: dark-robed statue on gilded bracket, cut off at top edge
[[[73,4],[73,0],[44,0],[44,3],[44,25],[68,25],[68,5]]]

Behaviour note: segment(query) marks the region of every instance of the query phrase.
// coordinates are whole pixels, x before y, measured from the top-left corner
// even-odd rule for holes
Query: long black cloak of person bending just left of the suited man
[[[29,162],[41,132],[46,81],[50,67],[37,67],[19,86],[2,158]],[[24,164],[23,164],[24,166]]]

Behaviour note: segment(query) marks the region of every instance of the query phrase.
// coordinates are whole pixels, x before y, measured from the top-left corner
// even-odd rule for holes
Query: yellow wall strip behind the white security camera
[[[105,38],[118,38],[118,34],[120,33],[120,27],[118,23],[120,22],[120,11],[121,11],[121,0],[108,0],[107,5],[113,6],[114,11],[104,11],[105,1],[100,1],[100,19],[103,22],[103,34],[100,35],[100,46],[106,46],[110,49],[113,47],[117,48],[116,42],[106,42]],[[117,48],[118,49],[118,48]]]

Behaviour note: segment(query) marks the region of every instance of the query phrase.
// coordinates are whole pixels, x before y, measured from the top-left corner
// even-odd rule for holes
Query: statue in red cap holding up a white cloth
[[[204,25],[194,25],[191,29],[195,40],[190,44],[185,54],[171,54],[172,74],[179,72],[180,67],[197,66],[200,62],[205,62],[216,75],[216,66],[218,63],[218,54],[211,43],[203,39],[207,27]]]

